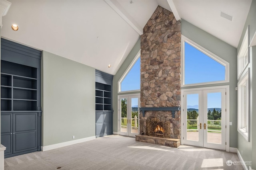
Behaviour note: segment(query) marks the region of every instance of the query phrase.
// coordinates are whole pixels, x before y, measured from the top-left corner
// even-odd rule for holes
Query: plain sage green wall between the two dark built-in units
[[[94,68],[43,51],[42,146],[95,136],[94,99]]]

